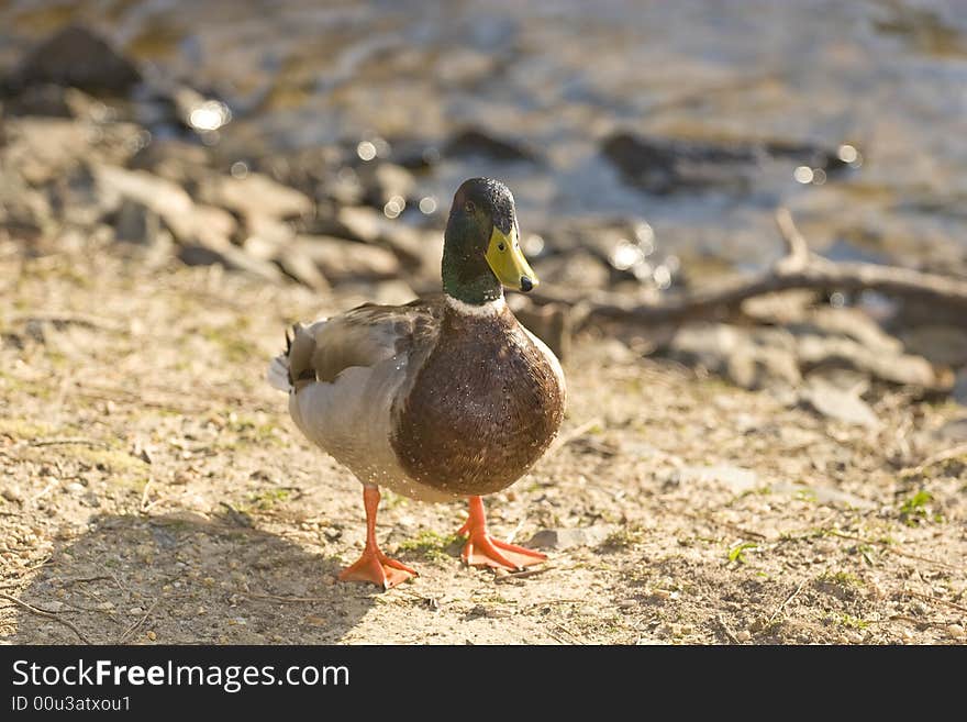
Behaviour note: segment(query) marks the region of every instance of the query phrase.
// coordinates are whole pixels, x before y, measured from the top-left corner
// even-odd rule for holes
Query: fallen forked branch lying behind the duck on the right
[[[786,243],[786,255],[771,268],[753,278],[724,281],[707,290],[670,297],[659,303],[634,303],[616,295],[585,298],[566,291],[537,291],[536,303],[578,307],[575,325],[588,321],[618,320],[638,323],[670,323],[736,309],[743,301],[788,290],[879,291],[887,296],[931,300],[967,311],[967,281],[897,266],[831,262],[809,251],[786,208],[776,210],[776,225]]]

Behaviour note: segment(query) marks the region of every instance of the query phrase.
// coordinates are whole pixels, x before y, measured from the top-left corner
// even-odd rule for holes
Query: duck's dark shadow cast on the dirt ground
[[[20,595],[53,619],[20,609],[9,641],[337,642],[374,603],[368,587],[334,584],[338,567],[231,520],[102,514],[87,532],[58,544]]]

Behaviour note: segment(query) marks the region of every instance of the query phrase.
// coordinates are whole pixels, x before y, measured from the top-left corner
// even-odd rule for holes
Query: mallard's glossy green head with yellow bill
[[[513,196],[499,180],[471,178],[454,196],[443,242],[443,290],[464,303],[486,303],[503,287],[530,291],[537,277],[520,245]]]

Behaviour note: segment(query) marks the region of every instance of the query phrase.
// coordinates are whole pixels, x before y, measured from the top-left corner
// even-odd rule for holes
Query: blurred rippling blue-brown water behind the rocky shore
[[[593,7],[592,7],[593,5]],[[946,265],[967,249],[967,3],[958,0],[513,2],[0,2],[0,63],[67,20],[231,105],[241,156],[381,136],[442,143],[468,124],[545,164],[446,159],[442,199],[508,180],[522,225],[646,219],[681,255],[755,266],[778,253],[771,209],[819,247]],[[823,185],[773,164],[741,193],[653,196],[599,153],[626,129],[691,138],[852,144]],[[837,245],[838,244],[838,245]]]

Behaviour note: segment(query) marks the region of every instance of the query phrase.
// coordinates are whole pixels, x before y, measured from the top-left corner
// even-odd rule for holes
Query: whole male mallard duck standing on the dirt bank
[[[443,247],[443,293],[367,303],[297,324],[269,367],[307,438],[363,482],[366,547],[340,579],[393,587],[416,573],[376,543],[379,487],[424,501],[469,497],[469,565],[519,569],[546,557],[487,533],[481,495],[505,489],[547,449],[564,416],[557,358],[524,329],[503,287],[537,278],[503,184],[464,182]]]

